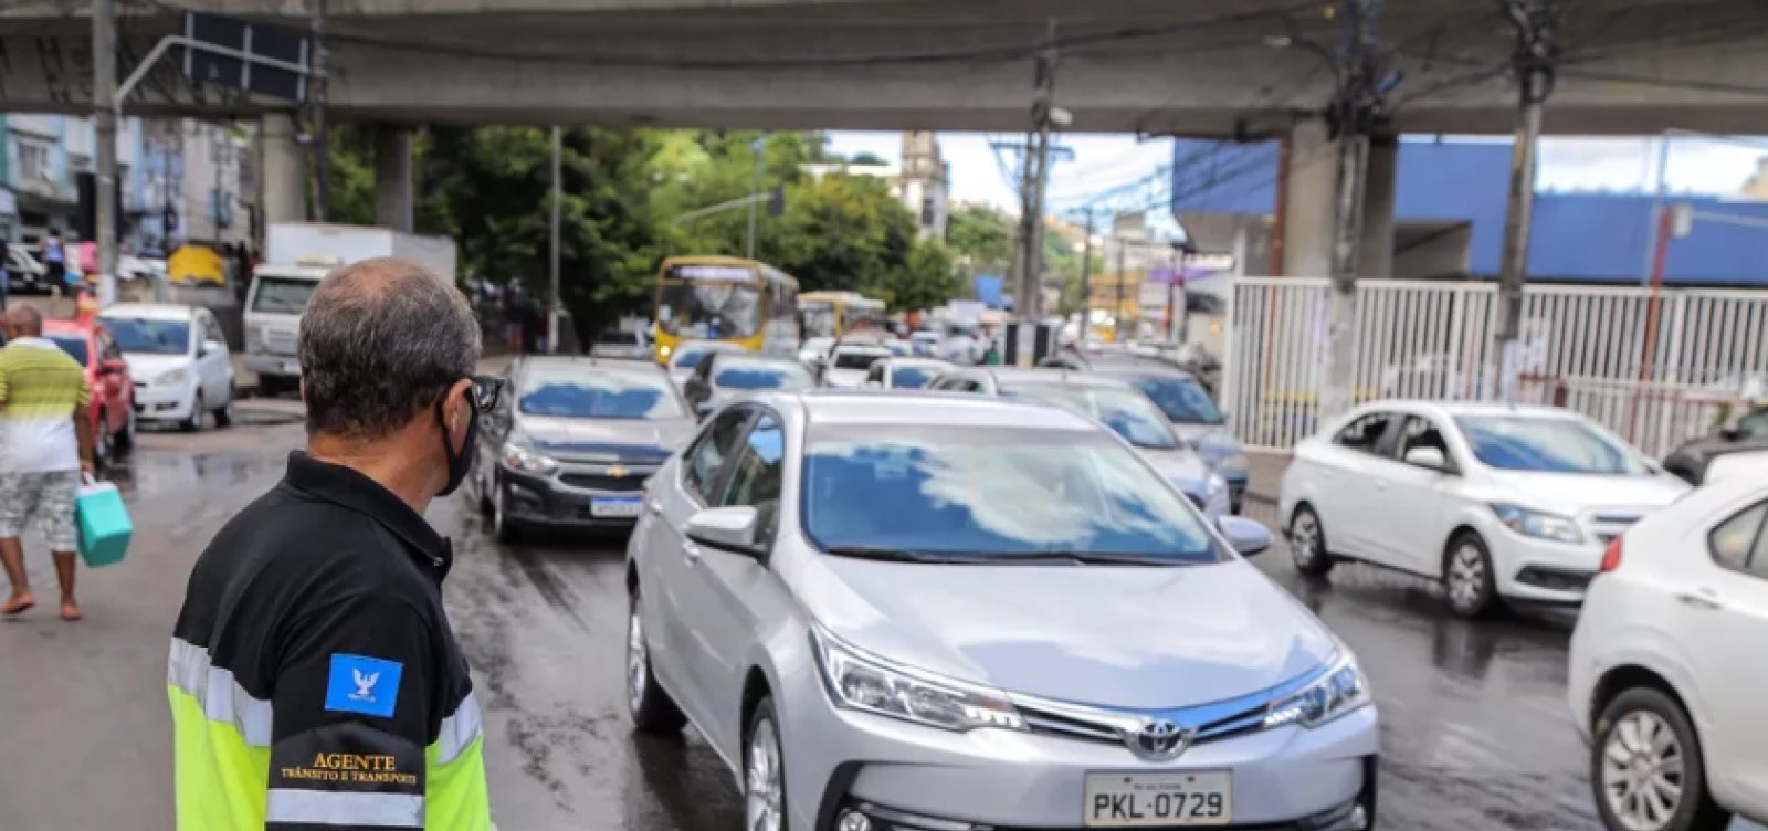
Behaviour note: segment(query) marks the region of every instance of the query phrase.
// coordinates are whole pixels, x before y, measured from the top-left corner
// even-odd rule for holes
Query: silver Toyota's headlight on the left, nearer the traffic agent
[[[893,665],[842,644],[820,626],[812,626],[810,640],[822,684],[838,707],[941,730],[1025,728],[1025,720],[999,690]]]

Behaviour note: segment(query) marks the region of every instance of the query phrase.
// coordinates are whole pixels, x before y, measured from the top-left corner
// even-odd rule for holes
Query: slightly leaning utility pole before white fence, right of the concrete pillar
[[[1529,267],[1529,226],[1535,221],[1535,150],[1540,145],[1542,104],[1554,87],[1556,11],[1552,0],[1506,0],[1517,27],[1512,62],[1520,85],[1522,122],[1510,149],[1510,205],[1505,214],[1505,260],[1497,274],[1497,389],[1506,401],[1517,394],[1522,373],[1522,283]]]

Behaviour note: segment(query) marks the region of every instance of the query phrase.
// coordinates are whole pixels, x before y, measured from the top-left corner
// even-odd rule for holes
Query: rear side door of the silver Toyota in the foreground
[[[652,661],[661,665],[658,672],[675,693],[677,704],[695,723],[709,728],[716,723],[713,713],[716,702],[705,679],[716,677],[714,667],[720,659],[713,654],[714,635],[702,621],[704,610],[693,601],[704,592],[698,585],[704,552],[697,545],[688,545],[682,529],[690,516],[716,504],[725,474],[730,470],[728,460],[737,451],[751,416],[751,407],[737,405],[711,419],[681,454],[675,476],[659,477],[667,481],[652,479],[645,502],[645,511],[652,513],[652,518],[645,522],[644,566],[649,569],[642,576],[647,587],[642,598],[647,605],[654,605],[647,610],[645,622],[651,624],[649,631],[659,635],[652,644]]]

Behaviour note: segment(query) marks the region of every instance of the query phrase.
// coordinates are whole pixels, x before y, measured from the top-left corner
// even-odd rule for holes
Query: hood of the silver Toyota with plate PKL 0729
[[[1188,707],[1268,690],[1337,640],[1245,560],[935,566],[813,557],[799,598],[870,652],[1008,693]]]

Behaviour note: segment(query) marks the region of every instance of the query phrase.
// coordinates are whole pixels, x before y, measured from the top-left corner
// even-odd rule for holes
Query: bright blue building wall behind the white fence
[[[1276,205],[1278,145],[1174,141],[1172,210],[1269,214]],[[1395,212],[1400,219],[1467,221],[1476,276],[1497,274],[1505,246],[1510,145],[1402,141]],[[1651,194],[1538,193],[1529,235],[1529,276],[1588,283],[1637,283],[1648,274]],[[1667,205],[1768,221],[1768,203],[1673,194]],[[1664,279],[1687,285],[1768,286],[1768,228],[1696,219],[1673,239]]]

